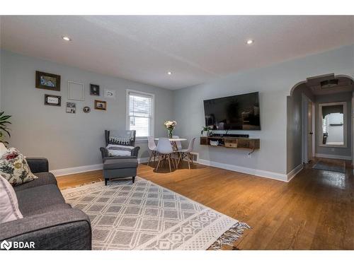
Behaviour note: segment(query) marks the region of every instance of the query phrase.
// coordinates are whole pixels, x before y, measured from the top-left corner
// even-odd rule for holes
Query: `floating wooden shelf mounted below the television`
[[[210,144],[212,143],[216,144]],[[221,137],[221,136],[208,136],[208,137],[200,137],[200,145],[201,146],[219,146],[226,148],[243,148],[243,149],[251,149],[251,153],[253,153],[256,149],[259,149],[260,143],[259,139],[251,139],[251,138],[241,138],[241,137]]]

